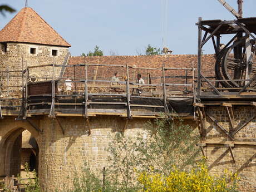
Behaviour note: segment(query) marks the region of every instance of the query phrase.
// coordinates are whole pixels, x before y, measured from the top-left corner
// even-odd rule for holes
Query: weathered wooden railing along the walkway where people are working
[[[67,77],[59,77],[59,68],[65,67],[73,69],[74,73],[71,78],[73,83],[72,91],[65,91],[63,86]],[[47,71],[47,75],[36,77],[37,82],[31,82],[32,76],[29,75],[31,70]],[[46,70],[47,69],[47,70]],[[175,71],[175,72],[174,72]],[[88,106],[91,105],[120,105],[127,111],[127,117],[131,118],[131,107],[152,107],[164,109],[165,113],[170,112],[168,106],[169,97],[195,97],[195,75],[194,68],[146,68],[135,67],[129,65],[104,65],[82,63],[77,65],[40,65],[40,66],[26,66],[21,73],[21,87],[20,97],[17,98],[19,105],[16,110],[19,111],[19,117],[26,119],[28,110],[40,108],[45,106],[48,115],[55,116],[55,110],[65,106],[70,106],[71,109],[83,109],[83,115],[88,117]],[[111,76],[107,76],[110,72],[118,72],[120,74],[120,81],[113,82],[110,80]],[[77,75],[79,73],[79,75]],[[136,82],[136,73],[143,73],[142,78],[145,84]],[[190,74],[188,74],[190,73]],[[114,75],[114,74],[113,74]],[[41,84],[40,84],[41,83]],[[45,83],[47,87],[40,87]],[[31,94],[29,86],[36,85],[38,93]],[[11,86],[7,86],[11,87]],[[50,87],[50,89],[49,89]],[[46,92],[43,92],[43,88]],[[2,83],[1,83],[2,90]],[[141,93],[138,90],[143,90]],[[91,97],[111,97],[110,101],[94,101]],[[114,101],[114,97],[122,98],[121,101]],[[61,102],[63,99],[68,100]],[[132,103],[134,99],[158,99],[161,104]],[[2,98],[1,101],[9,100],[9,98]],[[14,106],[14,105],[12,105]],[[2,107],[0,106],[0,112]],[[90,109],[91,110],[91,109]],[[36,110],[35,110],[36,111]],[[2,112],[1,112],[2,115]]]

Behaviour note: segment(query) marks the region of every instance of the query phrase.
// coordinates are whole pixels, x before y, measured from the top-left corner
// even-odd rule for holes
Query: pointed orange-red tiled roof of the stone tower
[[[71,47],[30,7],[21,9],[0,31],[0,42],[24,42]]]

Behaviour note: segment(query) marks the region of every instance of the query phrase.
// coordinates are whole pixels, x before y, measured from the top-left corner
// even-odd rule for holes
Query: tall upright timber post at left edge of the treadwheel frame
[[[201,56],[202,56],[202,28],[201,28],[202,18],[198,19],[198,90],[197,95],[200,96],[201,93]]]

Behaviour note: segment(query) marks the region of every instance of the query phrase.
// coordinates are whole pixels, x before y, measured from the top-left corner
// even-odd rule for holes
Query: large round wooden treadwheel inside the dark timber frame
[[[256,75],[256,63],[253,62],[255,41],[242,37],[233,45],[220,51],[215,63],[216,80],[223,87],[243,87]],[[252,85],[254,86],[254,85]]]

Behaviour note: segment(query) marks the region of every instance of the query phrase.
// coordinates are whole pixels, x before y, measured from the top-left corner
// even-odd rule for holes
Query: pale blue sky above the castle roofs
[[[69,42],[72,56],[100,46],[104,55],[144,53],[150,44],[162,47],[165,0],[28,0],[60,35]],[[237,8],[237,0],[227,0]],[[25,0],[2,0],[19,11]],[[244,0],[244,17],[256,16],[256,0]],[[16,14],[16,13],[15,13]],[[3,28],[15,14],[0,16]],[[173,54],[196,54],[198,17],[234,19],[217,0],[168,0],[167,46]],[[205,47],[204,53],[213,53]]]

